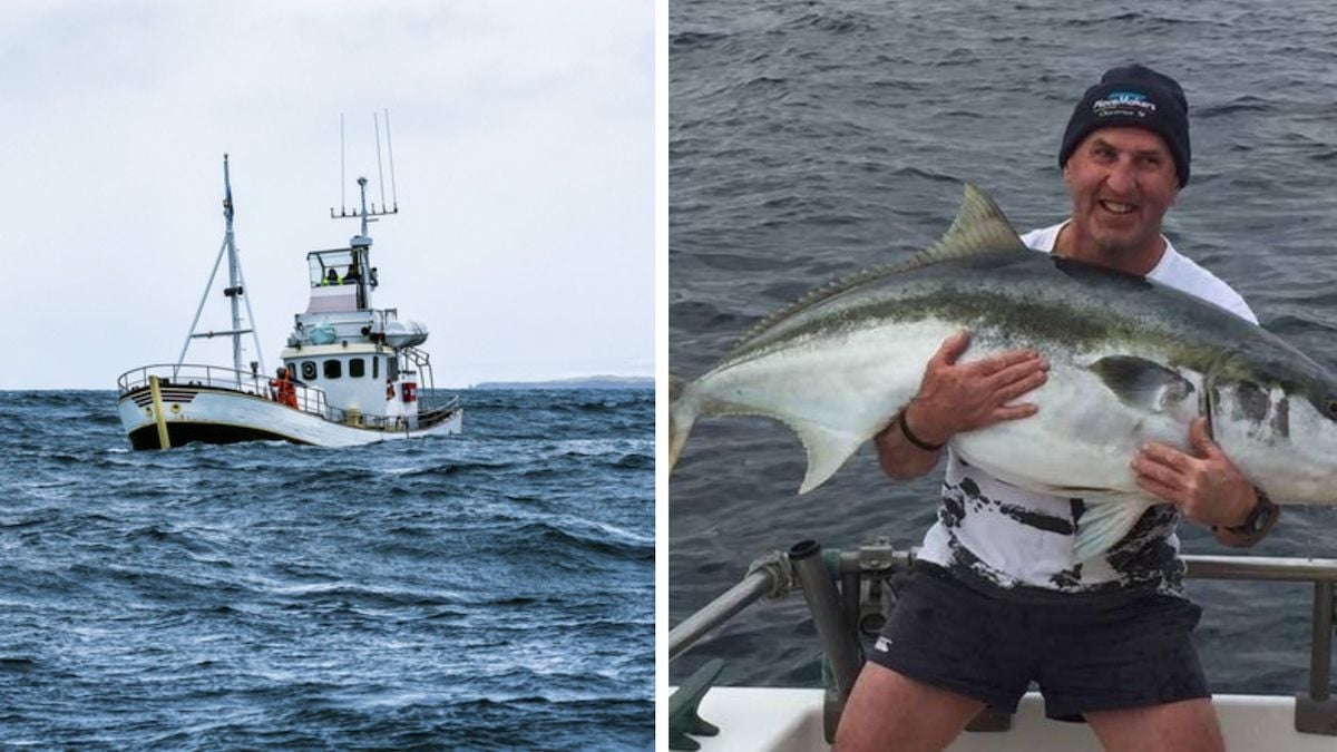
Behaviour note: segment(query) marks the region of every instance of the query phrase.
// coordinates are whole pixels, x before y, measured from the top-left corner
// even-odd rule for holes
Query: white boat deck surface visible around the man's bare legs
[[[1226,748],[1266,752],[1334,752],[1337,737],[1298,733],[1296,701],[1259,694],[1218,694]],[[702,720],[719,727],[714,737],[694,736],[702,752],[809,752],[829,749],[822,737],[822,690],[715,686],[701,702]],[[1038,693],[1023,698],[1012,729],[965,732],[953,752],[1040,752],[1063,749],[1099,752],[1086,724],[1051,721]]]

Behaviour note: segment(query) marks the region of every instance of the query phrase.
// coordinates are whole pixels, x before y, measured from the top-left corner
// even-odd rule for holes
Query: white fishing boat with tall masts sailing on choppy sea
[[[427,326],[401,321],[397,309],[372,304],[378,270],[372,265],[368,223],[397,214],[398,201],[390,210],[384,199],[380,210],[374,205],[369,210],[366,178],[357,183],[361,209],[337,215],[332,209],[330,215],[361,219],[361,231],[345,248],[306,254],[310,298],[306,310],[295,316],[281,353],[282,367],[270,376],[251,324],[254,316],[233,234],[231,173],[223,155],[226,231],[180,356],[176,363],[127,371],[116,380],[120,423],[134,448],[254,440],[348,447],[460,432],[464,412],[459,397],[437,396],[431,357],[418,348],[427,341]],[[201,332],[201,312],[223,258],[227,286],[222,292],[231,309],[231,326]],[[246,335],[257,353],[249,364],[242,363]],[[186,361],[193,341],[211,337],[231,339],[231,367]]]

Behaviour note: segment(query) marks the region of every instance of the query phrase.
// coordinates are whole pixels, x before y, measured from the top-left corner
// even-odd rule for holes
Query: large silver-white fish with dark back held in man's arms
[[[830,478],[919,389],[929,357],[960,329],[963,361],[1035,348],[1048,380],[1021,397],[1035,416],[960,434],[967,463],[1031,491],[1082,496],[1075,555],[1123,538],[1159,503],[1128,464],[1146,442],[1187,451],[1209,417],[1226,455],[1277,503],[1334,503],[1337,377],[1281,339],[1213,304],[1138,276],[1025,248],[967,185],[951,229],[913,260],[809,293],[719,365],[674,385],[668,462],[693,423],[762,415],[808,451],[800,494]]]

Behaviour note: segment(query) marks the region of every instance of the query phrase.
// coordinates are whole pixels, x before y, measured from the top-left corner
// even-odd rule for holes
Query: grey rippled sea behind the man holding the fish
[[[750,325],[840,274],[906,258],[951,223],[961,181],[1019,229],[1068,199],[1058,150],[1110,67],[1185,87],[1193,178],[1175,246],[1230,282],[1263,326],[1337,368],[1337,15],[1231,0],[674,0],[670,3],[670,369],[718,361]],[[893,483],[870,447],[796,494],[798,439],[762,419],[698,424],[670,482],[670,624],[804,538],[919,545],[940,471]],[[1337,492],[1337,490],[1334,490]],[[1201,527],[1189,553],[1229,553]],[[1289,508],[1250,553],[1337,557],[1337,510]],[[1304,689],[1312,587],[1191,581],[1218,692]],[[763,601],[671,666],[721,684],[821,684],[802,598]]]

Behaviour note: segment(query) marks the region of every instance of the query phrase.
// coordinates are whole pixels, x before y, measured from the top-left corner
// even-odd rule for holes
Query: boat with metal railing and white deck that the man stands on
[[[893,603],[881,583],[915,566],[912,550],[885,539],[853,550],[822,550],[802,541],[787,553],[753,562],[746,577],[670,630],[675,661],[743,609],[801,590],[822,646],[825,686],[714,686],[719,658],[697,668],[668,698],[671,749],[703,752],[808,752],[830,748],[845,698],[862,665],[862,645],[876,636]],[[1215,694],[1227,749],[1332,752],[1337,749],[1337,697],[1332,686],[1337,559],[1185,555],[1187,577],[1310,582],[1309,685],[1293,696]],[[1027,693],[1015,715],[987,708],[948,747],[953,752],[1099,751],[1086,724],[1044,717],[1044,701]]]

